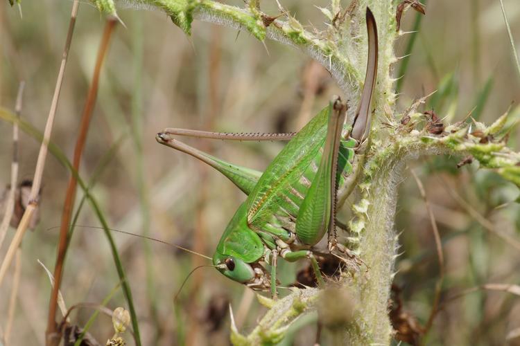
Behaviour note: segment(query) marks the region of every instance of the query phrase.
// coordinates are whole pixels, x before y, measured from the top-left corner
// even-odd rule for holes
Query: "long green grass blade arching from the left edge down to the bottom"
[[[22,131],[38,140],[38,142],[42,142],[43,134],[38,129],[33,127],[33,125],[29,124],[28,122],[18,119],[15,116],[15,114],[12,114],[10,111],[7,111],[6,109],[0,109],[0,118],[12,123],[16,122]],[[64,167],[67,167],[74,177],[76,177],[78,185],[80,185],[80,188],[87,195],[87,198],[89,199],[94,213],[101,222],[101,226],[103,226],[105,236],[107,237],[108,243],[110,245],[110,250],[112,251],[112,257],[114,259],[114,264],[116,265],[116,271],[119,275],[119,280],[121,280],[123,293],[128,304],[128,311],[130,311],[130,317],[132,318],[132,329],[134,331],[135,343],[137,346],[141,346],[141,335],[139,334],[139,325],[137,323],[137,313],[135,313],[134,301],[132,299],[132,291],[130,290],[130,285],[126,281],[126,275],[123,269],[123,264],[121,264],[121,259],[119,258],[119,253],[117,252],[116,244],[114,242],[114,238],[112,238],[112,234],[110,233],[110,228],[108,227],[108,223],[105,219],[105,216],[103,215],[103,212],[101,212],[101,208],[99,208],[96,199],[94,199],[92,194],[89,193],[87,185],[85,184],[83,179],[80,178],[78,172],[74,170],[69,159],[67,158],[67,156],[65,156],[65,154],[63,154],[61,149],[54,143],[49,142],[49,152],[51,152],[51,154],[53,154],[53,156],[57,158],[58,161],[60,161],[60,163]]]

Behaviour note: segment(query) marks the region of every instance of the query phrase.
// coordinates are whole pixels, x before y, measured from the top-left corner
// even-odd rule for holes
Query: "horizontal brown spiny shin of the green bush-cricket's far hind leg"
[[[196,138],[223,139],[223,140],[291,140],[297,132],[262,133],[262,132],[212,132],[194,129],[177,129],[168,127],[162,131],[163,138],[166,136],[188,136]]]

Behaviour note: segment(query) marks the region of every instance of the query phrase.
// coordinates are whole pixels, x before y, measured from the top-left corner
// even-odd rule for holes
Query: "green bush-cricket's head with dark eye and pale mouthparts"
[[[251,289],[264,290],[270,287],[270,276],[260,264],[247,263],[238,257],[223,255],[218,251],[213,256],[213,264],[229,279],[245,284]]]

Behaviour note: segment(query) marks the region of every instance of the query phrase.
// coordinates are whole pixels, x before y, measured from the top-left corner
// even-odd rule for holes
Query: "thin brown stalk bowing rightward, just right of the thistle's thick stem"
[[[419,177],[413,170],[410,170],[412,173],[415,182],[417,183],[417,187],[419,188],[419,192],[421,197],[424,199],[424,204],[426,205],[426,210],[428,210],[428,217],[430,218],[431,228],[433,230],[433,237],[435,238],[435,248],[437,249],[437,258],[439,260],[439,278],[435,284],[435,296],[433,298],[433,304],[431,307],[430,317],[428,317],[428,322],[424,326],[424,334],[427,334],[433,325],[433,320],[437,313],[439,312],[439,301],[440,294],[442,293],[442,282],[444,281],[444,254],[442,253],[442,242],[440,240],[439,229],[437,228],[437,222],[435,221],[435,215],[433,215],[433,210],[430,206],[430,202],[428,201],[428,197],[426,197],[426,191],[424,190],[424,185],[420,181]]]

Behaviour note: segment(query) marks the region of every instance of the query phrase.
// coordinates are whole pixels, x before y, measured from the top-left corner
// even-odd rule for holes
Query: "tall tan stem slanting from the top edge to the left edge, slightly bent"
[[[29,203],[24,212],[24,215],[21,217],[20,223],[18,224],[15,237],[13,237],[12,242],[9,245],[6,257],[3,258],[2,264],[0,266],[0,286],[3,282],[3,277],[6,276],[6,272],[12,262],[13,257],[15,256],[17,248],[21,243],[21,239],[24,237],[24,234],[29,224],[31,223],[31,219],[33,219],[33,214],[38,205],[37,197],[40,193],[40,186],[42,185],[42,175],[45,167],[45,159],[47,156],[47,146],[49,144],[49,140],[51,139],[54,117],[56,114],[56,109],[58,107],[58,100],[60,98],[60,90],[62,87],[65,66],[67,65],[67,57],[69,57],[69,49],[72,42],[72,34],[74,32],[74,26],[76,24],[76,16],[78,15],[78,7],[79,1],[74,0],[71,11],[71,19],[69,22],[69,30],[67,33],[67,40],[65,42],[65,47],[62,55],[62,62],[60,65],[60,71],[58,72],[58,79],[56,80],[53,100],[51,102],[51,109],[49,110],[49,116],[47,116],[47,123],[45,125],[44,138],[42,140],[40,153],[38,154],[38,159],[36,162],[33,186],[29,194]]]

